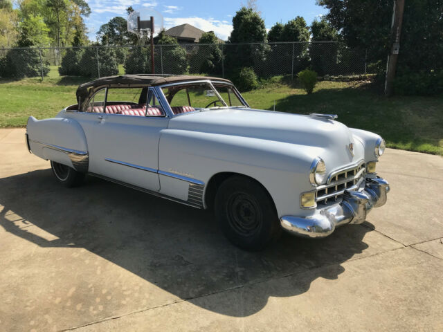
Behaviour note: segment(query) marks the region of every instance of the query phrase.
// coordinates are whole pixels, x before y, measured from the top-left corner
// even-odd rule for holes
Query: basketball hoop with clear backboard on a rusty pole
[[[154,71],[154,33],[163,29],[163,16],[153,9],[134,10],[127,17],[127,30],[135,33],[138,43],[143,42],[143,37],[151,35],[151,66]],[[157,33],[158,34],[158,33]]]

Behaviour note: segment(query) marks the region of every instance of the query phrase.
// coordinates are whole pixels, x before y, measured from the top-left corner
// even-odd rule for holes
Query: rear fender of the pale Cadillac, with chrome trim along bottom
[[[88,145],[82,126],[73,119],[51,118],[37,120],[28,118],[26,134],[30,151],[45,160],[53,160],[87,172],[89,165]]]

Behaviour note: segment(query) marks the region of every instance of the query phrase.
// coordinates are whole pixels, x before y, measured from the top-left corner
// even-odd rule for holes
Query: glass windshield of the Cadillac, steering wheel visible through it
[[[214,85],[216,90],[208,82],[199,82],[165,86],[162,91],[172,111],[183,107],[201,110],[246,106],[230,86],[226,84]]]

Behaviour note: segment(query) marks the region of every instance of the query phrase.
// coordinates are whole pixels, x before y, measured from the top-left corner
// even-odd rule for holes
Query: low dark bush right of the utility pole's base
[[[443,93],[443,71],[400,73],[393,84],[398,95],[437,95]]]

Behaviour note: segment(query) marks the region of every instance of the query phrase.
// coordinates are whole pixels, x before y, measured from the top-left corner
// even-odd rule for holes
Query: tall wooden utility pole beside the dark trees
[[[395,78],[395,70],[397,69],[397,58],[399,57],[401,24],[403,23],[404,0],[395,0],[394,9],[392,10],[392,23],[390,27],[390,35],[392,47],[388,55],[386,63],[386,80],[385,95],[392,95],[392,82]]]

